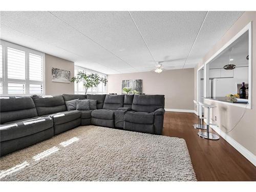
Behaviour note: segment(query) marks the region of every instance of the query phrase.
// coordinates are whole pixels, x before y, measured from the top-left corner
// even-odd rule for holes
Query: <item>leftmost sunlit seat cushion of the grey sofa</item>
[[[0,139],[1,142],[17,139],[47,130],[51,127],[53,127],[53,119],[51,117],[33,117],[10,121],[0,125]]]

